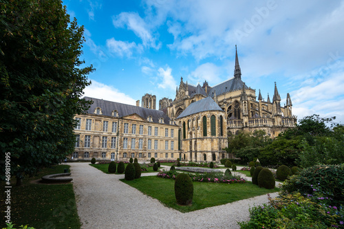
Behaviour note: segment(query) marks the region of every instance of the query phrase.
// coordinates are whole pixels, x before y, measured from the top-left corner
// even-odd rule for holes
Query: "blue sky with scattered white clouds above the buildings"
[[[85,26],[83,56],[96,71],[85,96],[135,105],[175,98],[180,77],[214,86],[233,77],[263,98],[277,83],[298,119],[344,122],[344,1],[65,0]],[[158,107],[157,107],[158,108]]]

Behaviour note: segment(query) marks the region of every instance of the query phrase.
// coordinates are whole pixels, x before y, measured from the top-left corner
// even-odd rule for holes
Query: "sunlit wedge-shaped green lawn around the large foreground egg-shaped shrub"
[[[247,182],[246,184],[193,182],[192,206],[179,206],[175,201],[173,179],[163,179],[156,176],[150,176],[140,177],[140,179],[134,179],[132,181],[121,179],[121,181],[133,186],[133,188],[137,188],[142,193],[149,195],[150,197],[160,200],[166,206],[175,208],[180,212],[191,212],[193,210],[228,204],[241,199],[279,191],[279,188],[272,190],[259,188],[251,182]]]

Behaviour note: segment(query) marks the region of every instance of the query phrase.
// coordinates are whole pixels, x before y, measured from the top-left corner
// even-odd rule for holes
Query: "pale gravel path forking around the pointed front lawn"
[[[268,202],[267,195],[182,213],[142,194],[88,163],[70,163],[81,228],[239,228],[250,206]],[[156,174],[156,173],[153,173]],[[152,173],[142,173],[142,176]],[[271,197],[276,197],[272,193]]]

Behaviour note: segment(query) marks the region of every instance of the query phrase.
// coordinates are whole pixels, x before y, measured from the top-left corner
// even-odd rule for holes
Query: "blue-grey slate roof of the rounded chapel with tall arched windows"
[[[189,107],[178,116],[178,118],[184,118],[186,116],[191,116],[194,113],[200,113],[202,111],[223,111],[219,105],[211,98],[206,97],[202,100],[198,100],[197,102],[191,103]]]

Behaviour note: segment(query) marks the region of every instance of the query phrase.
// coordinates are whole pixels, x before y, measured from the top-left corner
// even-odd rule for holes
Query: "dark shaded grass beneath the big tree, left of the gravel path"
[[[43,175],[63,173],[69,165],[45,168],[35,177],[25,177],[22,186],[11,188],[11,221],[17,228],[20,225],[34,228],[80,228],[80,220],[76,211],[73,184],[30,184]],[[5,184],[1,184],[5,186]],[[4,195],[1,192],[1,217],[4,219]],[[5,227],[1,221],[1,228]]]

